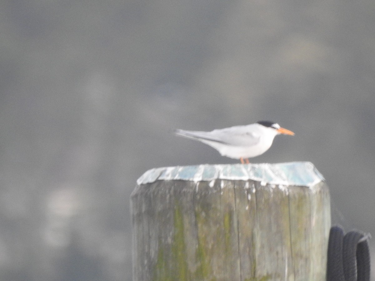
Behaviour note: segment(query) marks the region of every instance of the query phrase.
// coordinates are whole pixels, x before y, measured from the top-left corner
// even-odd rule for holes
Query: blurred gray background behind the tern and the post
[[[373,0],[6,0],[0,36],[0,280],[132,280],[136,179],[239,163],[175,128],[293,130],[252,162],[311,161],[375,235]]]

